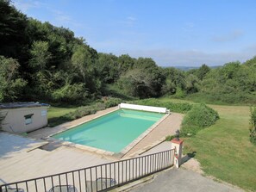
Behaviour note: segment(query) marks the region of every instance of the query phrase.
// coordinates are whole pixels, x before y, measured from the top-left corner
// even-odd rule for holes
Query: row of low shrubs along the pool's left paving
[[[79,108],[71,110],[70,112],[68,112],[66,114],[59,115],[55,118],[51,118],[49,120],[49,126],[55,127],[61,123],[65,123],[67,121],[73,121],[73,120],[81,118],[85,115],[92,115],[92,114],[95,114],[97,111],[103,110],[105,108],[115,107],[118,104],[120,104],[121,102],[122,102],[122,100],[119,98],[105,98],[105,99],[95,102],[93,104],[79,107]]]

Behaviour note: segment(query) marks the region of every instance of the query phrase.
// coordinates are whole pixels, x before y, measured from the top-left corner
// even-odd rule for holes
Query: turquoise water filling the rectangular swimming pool
[[[119,109],[65,132],[55,134],[53,138],[84,146],[93,146],[109,152],[121,152],[163,116],[164,114]]]

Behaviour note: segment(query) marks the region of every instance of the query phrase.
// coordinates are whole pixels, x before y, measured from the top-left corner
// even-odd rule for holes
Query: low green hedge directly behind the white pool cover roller
[[[134,104],[147,105],[153,107],[168,108],[171,112],[186,113],[192,108],[192,104],[188,102],[161,102],[158,99],[143,99],[134,101]]]

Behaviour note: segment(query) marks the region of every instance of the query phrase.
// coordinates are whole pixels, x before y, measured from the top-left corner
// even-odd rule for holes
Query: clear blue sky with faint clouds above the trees
[[[223,65],[256,55],[255,0],[13,0],[41,22],[70,28],[97,52],[161,66]]]

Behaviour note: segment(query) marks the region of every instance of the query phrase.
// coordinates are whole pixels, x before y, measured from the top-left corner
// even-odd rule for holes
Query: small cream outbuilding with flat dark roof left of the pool
[[[0,103],[2,130],[9,133],[27,133],[47,126],[49,105],[39,102]]]

